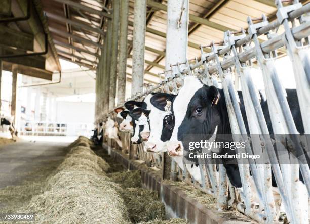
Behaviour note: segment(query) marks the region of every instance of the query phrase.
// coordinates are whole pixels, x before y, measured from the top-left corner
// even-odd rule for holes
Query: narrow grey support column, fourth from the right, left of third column
[[[118,40],[119,40],[119,21],[120,21],[119,17],[120,17],[120,0],[113,0],[109,110],[112,110],[115,107],[115,98],[116,98]]]

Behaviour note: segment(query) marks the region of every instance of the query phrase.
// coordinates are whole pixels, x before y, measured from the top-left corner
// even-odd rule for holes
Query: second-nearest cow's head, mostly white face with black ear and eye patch
[[[148,114],[150,135],[144,145],[147,152],[165,151],[165,143],[171,137],[174,116],[171,111],[171,104],[176,95],[158,93],[150,99],[150,113]]]

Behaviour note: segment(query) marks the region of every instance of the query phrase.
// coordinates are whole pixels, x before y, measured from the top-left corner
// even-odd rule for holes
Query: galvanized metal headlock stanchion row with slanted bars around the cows
[[[248,159],[247,163],[237,159],[242,188],[233,187],[227,178],[224,165],[215,165],[213,159],[205,159],[204,163],[199,164],[201,183],[190,176],[184,160],[183,166],[180,164],[182,167],[172,162],[172,180],[178,178],[217,198],[218,209],[224,210],[230,206],[259,223],[278,222],[282,204],[288,222],[303,224],[309,222],[309,208],[302,207],[300,202],[305,195],[301,195],[300,191],[299,170],[308,199],[310,195],[310,170],[303,150],[304,146],[310,146],[307,136],[310,134],[310,4],[302,6],[298,0],[294,0],[291,5],[283,6],[282,2],[276,0],[278,12],[275,21],[268,22],[264,15],[255,19],[249,17],[247,34],[244,29],[235,32],[227,30],[224,32],[223,41],[200,46],[199,59],[170,65],[170,70],[164,70],[165,79],[159,85],[148,86],[143,94],[132,99],[142,100],[151,92],[177,94],[184,84],[185,76],[197,76],[204,84],[222,88],[232,141],[245,142],[245,148],[238,149],[237,152],[259,154],[263,158]],[[284,33],[272,31],[279,26],[284,28]],[[267,40],[260,42],[258,37],[261,35],[265,35]],[[304,127],[304,142],[297,138],[299,132],[290,111],[286,90],[275,66],[277,50],[283,46],[293,66]],[[204,48],[210,48],[211,52],[205,53]],[[261,107],[261,101],[266,99],[262,99],[252,79],[252,60],[255,59],[262,71],[272,130],[268,129]],[[242,90],[248,130],[240,109],[238,88]],[[110,116],[111,114],[112,112],[109,113]],[[275,139],[272,139],[270,131],[281,134],[282,137],[274,135]],[[167,172],[167,167],[162,167],[163,153],[146,153],[143,143],[133,145],[130,143],[129,132],[121,133],[120,136],[123,153],[129,153],[130,159],[144,160],[148,166]],[[289,146],[281,144],[283,138]],[[108,144],[113,143],[108,140]],[[279,162],[276,152],[282,150],[291,152],[290,155],[282,155],[290,164]],[[272,186],[273,177],[277,192]]]

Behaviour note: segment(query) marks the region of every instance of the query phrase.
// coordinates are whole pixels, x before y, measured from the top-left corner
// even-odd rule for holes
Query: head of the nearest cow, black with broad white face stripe
[[[175,126],[167,143],[170,156],[182,156],[183,149],[189,151],[189,142],[208,140],[216,135],[217,126],[223,122],[222,110],[218,106],[220,92],[220,89],[204,85],[196,77],[184,79],[184,86],[173,101]]]

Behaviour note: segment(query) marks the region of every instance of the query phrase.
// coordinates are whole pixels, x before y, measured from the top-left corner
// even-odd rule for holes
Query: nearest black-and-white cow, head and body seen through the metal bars
[[[303,127],[296,90],[287,89],[286,92],[288,94],[287,100],[290,105],[294,122],[296,126],[298,126],[297,130],[302,133]],[[245,122],[246,129],[249,132],[242,93],[238,92],[238,95],[241,101],[240,109],[243,115],[243,120]],[[270,116],[267,113],[267,100],[262,99],[261,107],[269,132],[273,133]],[[219,135],[231,134],[223,89],[218,89],[215,86],[204,85],[196,77],[185,78],[184,86],[180,89],[178,96],[172,99],[172,112],[175,116],[175,124],[171,138],[167,143],[168,154],[172,157],[181,157],[183,156],[183,153],[185,153],[184,157],[188,159],[187,153],[189,150],[186,144],[188,142],[188,138],[191,138],[191,141],[194,142],[196,141],[196,138],[198,138],[198,141],[217,141]],[[188,134],[190,134],[190,137],[188,137]],[[230,139],[230,141],[232,141],[232,139]],[[222,154],[225,152],[220,149],[218,153]],[[234,151],[229,150],[229,153],[234,154]],[[188,169],[188,171],[195,178],[195,180],[199,182],[201,177],[198,175],[200,170],[197,161],[191,160],[191,163],[191,169]],[[236,188],[241,188],[242,183],[237,161],[232,162],[231,159],[221,159],[221,163],[226,169],[230,183]],[[195,166],[197,167],[196,169]],[[274,196],[276,196],[275,199],[279,202],[280,196],[277,194],[277,190],[275,189],[277,185],[274,180],[273,173],[272,178]],[[303,192],[306,192],[305,186],[303,184],[300,184],[300,186],[300,189]],[[252,191],[254,192],[254,195],[256,195],[256,189],[252,189]],[[306,195],[306,193],[303,195]],[[276,204],[279,204],[278,202],[276,202]],[[305,201],[302,203],[307,204]]]

